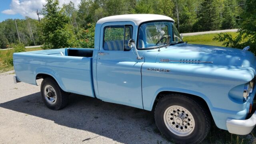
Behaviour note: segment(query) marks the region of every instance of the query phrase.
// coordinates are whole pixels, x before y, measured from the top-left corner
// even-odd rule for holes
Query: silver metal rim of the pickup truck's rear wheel
[[[56,91],[54,90],[54,88],[52,88],[52,86],[47,85],[44,87],[44,98],[49,104],[56,103],[56,99],[57,99]]]

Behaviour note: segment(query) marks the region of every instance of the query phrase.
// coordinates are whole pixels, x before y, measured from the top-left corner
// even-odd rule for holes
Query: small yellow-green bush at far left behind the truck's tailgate
[[[12,45],[12,49],[8,50],[4,56],[4,64],[7,66],[13,66],[12,54],[14,52],[25,52],[25,45],[21,43]]]

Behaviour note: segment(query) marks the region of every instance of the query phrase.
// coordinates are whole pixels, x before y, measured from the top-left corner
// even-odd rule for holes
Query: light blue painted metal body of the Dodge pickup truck
[[[256,93],[254,88],[248,99],[243,99],[244,84],[256,74],[256,59],[251,52],[183,43],[138,50],[144,59],[137,60],[134,48],[130,51],[104,50],[104,26],[124,24],[133,26],[132,38],[137,42],[138,25],[134,22],[96,24],[94,49],[79,49],[93,50],[92,57],[67,56],[67,50],[72,48],[14,53],[17,79],[36,84],[37,74],[48,74],[66,92],[145,110],[152,110],[160,92],[192,94],[206,101],[214,122],[225,130],[227,118],[246,118]],[[98,52],[108,54],[98,55]],[[209,63],[200,63],[202,61]]]

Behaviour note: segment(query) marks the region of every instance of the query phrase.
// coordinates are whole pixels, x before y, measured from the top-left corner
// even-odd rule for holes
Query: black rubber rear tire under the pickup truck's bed
[[[54,92],[52,93],[53,96],[55,96],[56,100],[54,100],[52,103],[50,102],[50,97],[45,96],[45,88],[53,88]],[[49,94],[48,94],[49,95]],[[68,104],[68,93],[64,92],[58,83],[53,80],[52,78],[44,78],[41,84],[41,96],[44,101],[44,104],[52,110],[60,110],[64,108]],[[48,100],[46,100],[48,98]]]

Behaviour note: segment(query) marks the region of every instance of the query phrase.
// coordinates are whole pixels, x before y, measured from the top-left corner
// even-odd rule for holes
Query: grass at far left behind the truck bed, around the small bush
[[[42,50],[42,48],[26,48],[26,52],[36,51],[36,50]],[[0,73],[13,70],[13,66],[6,66],[3,63],[4,56],[6,55],[7,52],[8,52],[8,50],[0,50]]]

